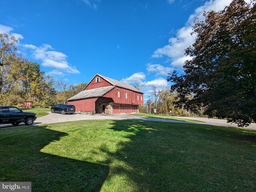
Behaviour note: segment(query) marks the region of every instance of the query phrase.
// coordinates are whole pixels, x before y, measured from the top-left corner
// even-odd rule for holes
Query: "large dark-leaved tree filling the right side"
[[[178,106],[238,126],[256,121],[256,5],[233,0],[224,10],[196,20],[196,35],[186,55],[184,74],[169,74]],[[189,96],[192,96],[192,98]]]

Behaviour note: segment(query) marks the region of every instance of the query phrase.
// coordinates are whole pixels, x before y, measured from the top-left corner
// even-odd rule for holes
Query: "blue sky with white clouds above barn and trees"
[[[231,0],[1,0],[0,33],[54,78],[78,84],[96,74],[150,88],[182,72],[195,17]]]

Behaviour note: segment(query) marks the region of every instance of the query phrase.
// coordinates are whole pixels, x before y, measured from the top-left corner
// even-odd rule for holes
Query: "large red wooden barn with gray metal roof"
[[[96,74],[86,87],[68,99],[76,111],[131,114],[139,112],[143,105],[143,92],[132,85]]]

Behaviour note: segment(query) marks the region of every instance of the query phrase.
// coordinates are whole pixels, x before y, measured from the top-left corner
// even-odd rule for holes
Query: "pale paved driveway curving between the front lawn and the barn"
[[[226,120],[217,120],[217,119],[209,120],[207,118],[188,118],[188,117],[179,117],[179,118],[204,121],[204,123],[196,123],[196,124],[237,127],[236,124],[227,123]],[[47,116],[37,118],[37,120],[34,122],[34,125],[46,124],[46,123],[60,123],[60,122],[66,122],[66,121],[78,121],[78,120],[141,120],[141,121],[161,121],[161,122],[170,122],[170,123],[188,123],[185,121],[176,121],[176,120],[168,120],[168,119],[160,119],[160,118],[148,118],[148,117],[139,117],[139,116],[131,116],[131,115],[108,115],[108,114],[62,115],[62,114],[53,113]],[[22,126],[22,125],[24,125],[24,123],[20,123],[19,126]],[[12,125],[0,125],[0,128],[6,128],[6,127],[12,127]],[[248,128],[256,129],[255,123],[252,123]]]

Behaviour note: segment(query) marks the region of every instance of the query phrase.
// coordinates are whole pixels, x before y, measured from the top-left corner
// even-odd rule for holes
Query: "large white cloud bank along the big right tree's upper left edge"
[[[199,18],[203,20],[204,11],[222,10],[225,6],[228,6],[231,1],[232,0],[210,0],[205,2],[203,6],[196,8],[194,13],[188,18],[185,26],[177,31],[176,37],[171,37],[169,39],[168,45],[156,49],[152,57],[169,57],[172,61],[172,67],[182,69],[184,61],[186,61],[186,59],[192,59],[191,57],[184,56],[184,49],[192,45],[194,42],[193,37],[190,35],[190,32],[192,31],[192,25],[194,24],[194,18]],[[250,0],[246,0],[246,2],[250,2]]]

